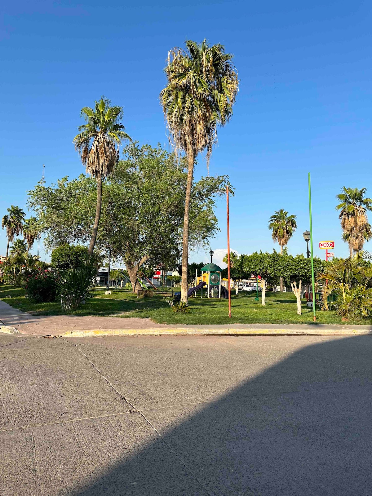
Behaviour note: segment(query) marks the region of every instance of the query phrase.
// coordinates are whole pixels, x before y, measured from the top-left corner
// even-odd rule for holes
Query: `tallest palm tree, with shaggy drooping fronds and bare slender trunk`
[[[160,93],[167,125],[176,152],[187,156],[187,185],[182,239],[182,273],[187,274],[189,204],[195,158],[206,149],[207,166],[217,141],[217,126],[232,116],[238,92],[238,75],[220,44],[209,46],[186,41],[186,51],[173,49],[164,71],[168,84]],[[182,279],[181,300],[187,303],[187,278]]]

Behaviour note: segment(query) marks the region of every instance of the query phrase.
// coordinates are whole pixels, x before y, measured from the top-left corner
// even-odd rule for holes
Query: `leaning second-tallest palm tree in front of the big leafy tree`
[[[101,217],[102,179],[109,176],[119,161],[119,146],[123,140],[131,141],[121,123],[123,108],[114,105],[105,97],[95,102],[94,109],[84,107],[80,116],[86,121],[78,127],[80,131],[73,138],[75,149],[79,152],[87,174],[97,180],[96,216],[92,228],[88,253],[93,254]],[[117,146],[117,147],[116,147]]]

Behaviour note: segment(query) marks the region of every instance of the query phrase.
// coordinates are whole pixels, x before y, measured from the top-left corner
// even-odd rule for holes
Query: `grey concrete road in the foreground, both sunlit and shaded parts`
[[[372,337],[0,333],[1,495],[371,495]]]

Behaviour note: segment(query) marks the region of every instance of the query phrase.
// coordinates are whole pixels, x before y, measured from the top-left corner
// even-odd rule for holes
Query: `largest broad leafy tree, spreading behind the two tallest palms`
[[[182,243],[182,223],[187,183],[185,160],[149,145],[129,144],[114,173],[103,184],[102,218],[97,250],[107,259],[122,260],[133,290],[138,288],[141,267],[167,261],[175,268]],[[192,188],[189,209],[190,248],[203,248],[218,232],[214,213],[217,198],[230,185],[227,176],[201,178]],[[95,215],[96,183],[84,175],[57,185],[38,184],[28,192],[29,207],[46,232],[47,248],[64,242],[87,243]],[[173,257],[173,260],[171,260]]]

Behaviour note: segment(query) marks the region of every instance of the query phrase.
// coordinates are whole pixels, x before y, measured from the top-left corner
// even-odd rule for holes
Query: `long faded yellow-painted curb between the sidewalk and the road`
[[[71,330],[64,332],[63,337],[93,337],[93,336],[159,336],[167,334],[199,334],[199,335],[227,335],[227,336],[365,336],[372,335],[372,330],[355,329],[90,329],[86,331]]]

